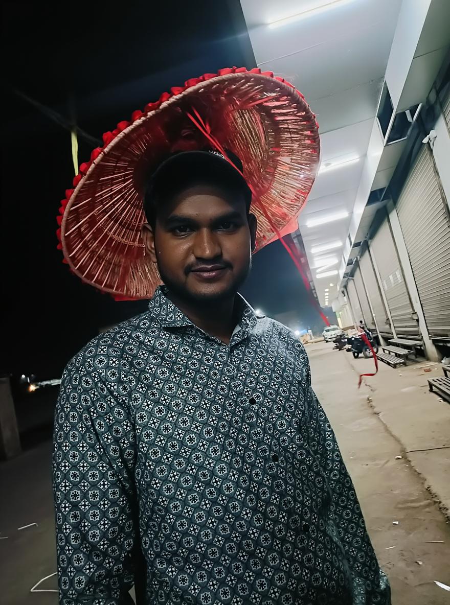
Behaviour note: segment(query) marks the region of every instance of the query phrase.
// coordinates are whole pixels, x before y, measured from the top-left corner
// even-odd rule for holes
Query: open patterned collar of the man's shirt
[[[239,302],[242,309],[242,314],[239,318],[239,326],[243,333],[247,335],[250,330],[252,330],[258,321],[259,315],[257,316],[254,312],[253,308],[248,304],[248,302],[238,294]],[[157,319],[162,327],[165,328],[180,328],[184,326],[193,326],[194,324],[190,321],[190,319],[185,316],[185,314],[176,307],[173,302],[167,297],[167,287],[159,286],[157,287],[153,298],[148,305],[148,310],[150,315]],[[196,326],[194,326],[196,327]],[[233,341],[236,342],[236,334],[233,336]],[[244,338],[244,335],[241,334],[239,341]]]

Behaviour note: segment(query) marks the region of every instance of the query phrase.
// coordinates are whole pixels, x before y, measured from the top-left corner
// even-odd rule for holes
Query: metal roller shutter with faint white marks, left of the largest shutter
[[[380,272],[397,336],[420,338],[419,324],[412,316],[411,301],[387,217],[374,235],[370,247]]]

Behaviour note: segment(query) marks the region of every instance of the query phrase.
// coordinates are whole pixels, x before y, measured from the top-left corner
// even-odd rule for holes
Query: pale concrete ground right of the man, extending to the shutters
[[[380,364],[377,376],[363,379],[366,384],[358,389],[359,374],[373,371],[372,359],[353,359],[325,343],[308,345],[307,351],[314,389],[334,428],[372,543],[391,581],[392,604],[449,603],[449,592],[434,580],[450,585],[450,527],[426,485],[434,483],[442,492],[438,500],[443,499],[450,450],[406,453],[449,445],[450,405],[428,394],[426,382],[437,370],[424,373],[425,368],[419,368],[423,364],[393,370]],[[425,458],[417,457],[423,454],[431,457],[428,466]],[[398,525],[393,525],[395,521]]]

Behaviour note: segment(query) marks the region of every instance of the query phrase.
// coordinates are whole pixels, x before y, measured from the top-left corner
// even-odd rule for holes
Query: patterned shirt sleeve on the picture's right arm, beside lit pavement
[[[366,530],[356,491],[322,406],[308,384],[308,441],[325,471],[329,488],[329,515],[345,552],[352,578],[353,603],[391,605],[388,578],[379,567]]]

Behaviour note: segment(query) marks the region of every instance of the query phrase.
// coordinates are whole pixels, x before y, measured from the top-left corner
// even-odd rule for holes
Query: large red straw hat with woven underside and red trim
[[[240,158],[257,250],[294,231],[319,165],[318,126],[304,97],[259,69],[188,80],[103,140],[62,200],[58,247],[73,273],[116,298],[150,298],[160,283],[141,240],[142,202],[148,175],[169,154],[209,146]]]

